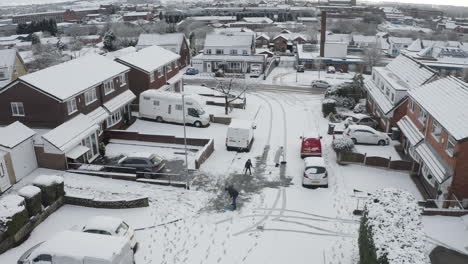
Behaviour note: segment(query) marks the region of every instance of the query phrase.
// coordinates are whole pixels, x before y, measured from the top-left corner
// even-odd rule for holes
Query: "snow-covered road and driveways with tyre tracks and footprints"
[[[290,70],[285,73],[284,76],[295,74]],[[289,77],[284,76],[281,77],[286,78],[283,81],[289,82]],[[275,82],[280,84],[281,78]],[[137,229],[140,243],[137,264],[357,263],[359,217],[352,214],[358,207],[354,190],[372,193],[379,188],[395,187],[409,191],[417,199],[421,195],[407,173],[338,165],[330,147],[332,137],[326,134],[328,121],[321,115],[322,100],[323,95],[284,90],[247,94],[247,109],[234,109],[233,115],[255,120],[257,124],[253,148],[248,153],[226,150],[226,125],[187,127],[188,137],[213,138],[215,142],[214,153],[191,179],[190,191],[65,173],[66,187],[74,192],[82,188],[86,190],[84,193],[100,197],[106,197],[106,194],[145,195],[150,199],[150,206],[107,210],[66,205],[39,225],[26,242],[0,255],[0,263],[15,263],[32,245],[61,230],[80,227],[94,215],[118,216]],[[144,120],[137,120],[129,130],[183,136],[180,125]],[[300,136],[310,132],[323,136],[329,188],[306,189],[301,185]],[[280,146],[285,147],[287,164],[277,168],[273,156]],[[111,145],[108,151],[121,153],[128,150],[127,147],[124,150],[114,147]],[[139,149],[138,146],[132,148]],[[388,149],[391,146],[358,148],[367,153],[391,153]],[[248,158],[254,163],[252,176],[243,175]],[[40,170],[35,173],[56,172]],[[228,184],[234,184],[240,190],[239,210],[234,212],[222,210],[228,202],[224,191]],[[449,227],[453,232],[463,227],[455,219],[459,220],[443,218],[446,226],[453,224]],[[460,231],[450,236],[444,233],[445,228],[437,217],[424,217],[423,220],[430,237],[463,250],[466,229],[465,233]],[[432,242],[428,243],[428,248],[431,247]]]

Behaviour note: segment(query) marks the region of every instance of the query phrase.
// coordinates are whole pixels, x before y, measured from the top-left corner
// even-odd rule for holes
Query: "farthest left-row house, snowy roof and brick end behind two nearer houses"
[[[141,34],[138,37],[137,49],[157,45],[180,55],[179,66],[185,68],[191,65],[190,48],[183,33]]]

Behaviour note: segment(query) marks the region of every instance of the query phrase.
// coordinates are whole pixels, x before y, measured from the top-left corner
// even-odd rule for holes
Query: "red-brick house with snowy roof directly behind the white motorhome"
[[[160,89],[164,86],[167,90],[180,92],[182,85],[180,77],[177,77],[180,76],[179,58],[180,56],[172,51],[151,46],[119,57],[115,61],[130,67],[130,90],[138,97],[148,89]]]

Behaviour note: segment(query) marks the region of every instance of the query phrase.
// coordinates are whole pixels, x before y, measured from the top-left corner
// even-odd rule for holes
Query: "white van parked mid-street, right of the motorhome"
[[[250,120],[232,119],[226,135],[227,150],[250,151],[255,125]]]

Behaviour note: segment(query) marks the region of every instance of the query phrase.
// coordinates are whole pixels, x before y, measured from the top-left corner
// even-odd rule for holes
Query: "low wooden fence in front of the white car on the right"
[[[413,161],[392,160],[391,157],[384,158],[378,156],[367,156],[367,154],[361,154],[352,151],[338,152],[337,162],[340,164],[354,163],[371,167],[411,172],[418,172],[419,169],[418,164]]]

